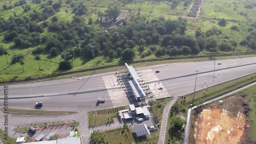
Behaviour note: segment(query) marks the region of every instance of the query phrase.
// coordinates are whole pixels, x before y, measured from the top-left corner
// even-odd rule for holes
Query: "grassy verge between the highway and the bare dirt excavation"
[[[229,91],[232,90],[236,90],[242,86],[245,86],[247,84],[250,84],[252,82],[256,81],[256,73],[252,74],[252,75],[248,75],[236,80],[232,80],[223,84],[219,84],[216,86],[212,86],[212,87],[208,87],[207,88],[207,93],[206,93],[206,88],[200,91],[195,92],[195,97],[194,97],[194,105],[200,105],[203,102],[207,101],[207,100],[211,100],[214,98],[217,98],[219,95],[222,95],[224,93],[227,93]],[[244,91],[244,90],[243,90]],[[244,91],[245,92],[245,91]],[[245,92],[246,93],[246,92]],[[190,103],[193,99],[193,93],[185,95],[185,97],[182,97],[181,99],[179,99],[176,104],[174,105],[174,107],[172,108],[171,112],[170,112],[170,117],[172,118],[172,116],[175,115],[181,115],[183,117],[187,117],[187,109],[190,107]],[[248,97],[248,99],[251,99],[251,97]],[[250,102],[250,107],[253,105],[254,103]],[[251,111],[250,111],[251,112]],[[195,111],[192,112],[191,115],[194,115]],[[255,119],[252,116],[252,121],[254,121],[253,119]],[[195,121],[194,118],[191,118],[190,121],[190,128],[189,128],[189,139],[193,139],[193,133],[194,130],[191,130],[191,127],[193,127]],[[172,120],[170,121],[170,126],[173,126],[173,122]],[[174,142],[174,141],[183,141],[183,139],[181,139],[180,136],[182,136],[182,134],[179,134],[180,132],[177,133],[173,133],[172,134],[172,129],[169,129],[168,135],[169,135],[169,140],[168,142]],[[252,129],[252,131],[254,132],[254,127]],[[183,131],[184,133],[184,131]],[[255,133],[255,132],[254,132]],[[175,136],[176,135],[176,136]]]

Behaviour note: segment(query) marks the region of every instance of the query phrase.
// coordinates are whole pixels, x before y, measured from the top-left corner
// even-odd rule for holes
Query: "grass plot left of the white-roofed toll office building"
[[[88,112],[89,126],[97,126],[112,123],[113,117],[118,116],[119,110],[129,109],[129,106],[121,106],[110,109],[100,109]]]

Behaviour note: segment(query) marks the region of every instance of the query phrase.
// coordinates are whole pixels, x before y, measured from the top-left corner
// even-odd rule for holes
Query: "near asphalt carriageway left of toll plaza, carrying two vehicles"
[[[10,90],[9,90],[10,91]],[[97,99],[104,99],[105,103],[97,103]],[[0,106],[3,105],[0,101]],[[52,110],[95,110],[114,107],[112,105],[109,93],[99,91],[93,93],[82,93],[76,95],[60,95],[55,97],[42,97],[30,99],[11,99],[8,106],[11,108],[30,108],[33,109],[36,102],[44,102],[41,109]],[[2,102],[2,103],[1,103]]]

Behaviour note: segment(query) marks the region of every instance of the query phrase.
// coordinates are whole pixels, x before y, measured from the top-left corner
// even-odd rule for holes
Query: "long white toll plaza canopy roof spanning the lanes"
[[[138,80],[140,79],[139,76],[137,75],[135,69],[133,66],[129,66],[127,63],[125,63],[126,70],[128,70],[129,74],[133,78],[133,80],[129,81],[129,84],[131,85],[136,98],[144,98],[146,96],[145,92],[141,88]]]

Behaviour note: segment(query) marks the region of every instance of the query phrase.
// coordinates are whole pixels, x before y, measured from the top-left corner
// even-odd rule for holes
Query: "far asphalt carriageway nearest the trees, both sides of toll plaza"
[[[219,61],[216,61],[216,69],[253,63],[253,62],[256,62],[256,58],[249,57],[249,58],[243,58],[243,59],[222,60],[221,61],[222,65],[217,65],[218,62]],[[148,66],[148,67],[151,67],[151,66]],[[157,74],[157,77],[159,79],[194,74],[195,70],[197,69],[199,69],[201,72],[213,70],[214,61],[173,63],[165,67],[152,68],[153,71],[160,70],[160,73]],[[89,90],[104,89],[104,88],[105,88],[105,84],[103,83],[103,80],[101,77],[90,78],[88,80],[78,80],[78,78],[62,79],[62,80],[54,80],[54,81],[47,81],[47,82],[10,85],[9,97],[61,94],[61,93],[89,91]]]

